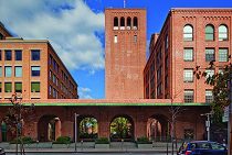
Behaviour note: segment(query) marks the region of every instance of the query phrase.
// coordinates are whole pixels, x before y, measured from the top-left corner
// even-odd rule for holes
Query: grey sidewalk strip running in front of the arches
[[[55,146],[52,143],[40,143],[25,145],[24,151],[28,153],[74,153],[75,144]],[[66,146],[66,147],[65,147]],[[168,152],[171,152],[171,144],[169,143]],[[7,153],[15,153],[15,144],[0,143]],[[20,151],[20,148],[19,148]],[[137,148],[135,143],[110,143],[110,147],[95,148],[94,143],[77,144],[77,153],[167,153],[167,143],[156,143],[152,147]]]

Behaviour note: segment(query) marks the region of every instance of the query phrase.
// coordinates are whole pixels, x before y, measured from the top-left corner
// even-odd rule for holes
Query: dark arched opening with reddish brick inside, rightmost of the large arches
[[[162,114],[154,114],[147,120],[147,137],[151,141],[166,141],[170,135],[168,118]]]

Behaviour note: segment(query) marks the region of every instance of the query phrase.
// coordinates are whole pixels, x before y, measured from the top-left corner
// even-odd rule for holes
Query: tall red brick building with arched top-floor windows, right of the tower
[[[211,102],[212,87],[198,80],[193,71],[208,76],[220,67],[205,69],[211,60],[223,66],[232,54],[232,9],[171,9],[160,34],[150,41],[144,70],[146,99],[172,102]]]

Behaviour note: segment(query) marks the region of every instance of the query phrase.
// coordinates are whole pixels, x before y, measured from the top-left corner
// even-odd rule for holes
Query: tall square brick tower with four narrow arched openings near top
[[[146,10],[105,10],[106,99],[143,99]]]

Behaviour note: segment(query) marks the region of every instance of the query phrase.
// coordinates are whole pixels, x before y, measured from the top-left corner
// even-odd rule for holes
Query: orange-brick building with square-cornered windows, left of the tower
[[[45,40],[13,37],[0,24],[0,99],[75,99],[77,84]]]

